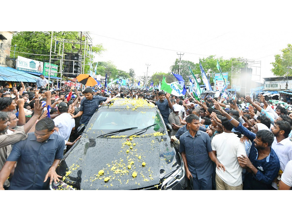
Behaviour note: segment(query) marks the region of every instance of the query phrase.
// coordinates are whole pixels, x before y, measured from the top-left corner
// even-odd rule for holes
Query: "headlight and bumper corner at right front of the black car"
[[[181,158],[181,157],[180,157]],[[182,165],[173,172],[170,176],[168,176],[164,182],[162,183],[162,190],[172,190],[172,189],[186,189],[187,180],[186,180],[186,172],[185,165],[182,161]]]

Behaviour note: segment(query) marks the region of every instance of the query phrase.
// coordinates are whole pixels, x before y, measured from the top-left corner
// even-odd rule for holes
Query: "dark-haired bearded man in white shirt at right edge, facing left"
[[[284,120],[276,121],[274,127],[272,127],[272,133],[275,135],[274,142],[272,143],[272,149],[276,152],[279,158],[280,171],[284,171],[288,161],[292,160],[292,142],[288,137],[290,131],[290,124]],[[277,183],[280,178],[281,174],[279,173],[277,181],[272,183],[272,187],[275,189],[278,189]]]

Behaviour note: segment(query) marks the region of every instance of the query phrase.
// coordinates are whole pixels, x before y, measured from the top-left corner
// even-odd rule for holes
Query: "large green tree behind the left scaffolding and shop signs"
[[[61,38],[61,39],[76,39],[80,38],[80,32],[53,32],[53,38]],[[85,36],[82,36],[81,40],[85,40]],[[15,57],[18,55],[34,60],[38,60],[41,62],[49,62],[50,48],[51,48],[51,32],[36,32],[36,31],[22,31],[13,34],[11,45],[16,45],[15,48]],[[52,45],[52,50],[55,49],[55,44]],[[59,51],[59,45],[56,45],[56,51]],[[93,61],[96,55],[100,55],[102,51],[105,51],[102,44],[94,45],[92,47],[93,55],[91,58],[91,62]],[[80,48],[79,44],[65,44],[64,53],[83,53],[84,48]],[[31,53],[31,54],[26,54]],[[37,55],[32,55],[37,54]],[[14,49],[10,51],[10,57],[13,58]],[[53,54],[52,58],[56,57]],[[51,63],[59,65],[59,60],[52,60]],[[85,64],[89,64],[90,59],[85,58]],[[94,66],[95,67],[95,66]],[[94,68],[93,67],[93,68]],[[59,71],[59,69],[58,69]],[[89,73],[90,66],[86,65],[84,67],[84,73]]]

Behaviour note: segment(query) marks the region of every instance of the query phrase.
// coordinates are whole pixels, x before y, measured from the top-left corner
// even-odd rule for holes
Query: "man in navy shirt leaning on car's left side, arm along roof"
[[[92,93],[92,88],[86,88],[84,90],[85,98],[83,98],[80,102],[79,112],[76,115],[72,116],[72,118],[76,118],[82,115],[80,119],[80,124],[87,125],[92,115],[98,110],[100,101],[106,101],[106,103],[108,103],[111,100],[108,97],[102,97],[99,95],[93,96]]]

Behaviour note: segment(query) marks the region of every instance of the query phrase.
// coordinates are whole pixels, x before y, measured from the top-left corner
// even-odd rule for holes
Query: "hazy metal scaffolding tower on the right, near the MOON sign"
[[[246,78],[241,78],[241,69],[242,68],[246,68],[246,72],[247,69],[252,68],[252,74],[251,74],[251,81],[248,81],[247,78],[247,73],[246,73]],[[260,76],[261,76],[261,61],[255,61],[255,60],[250,60],[250,59],[237,59],[235,61],[232,61],[231,64],[231,91],[232,88],[234,88],[234,92],[238,92],[236,91],[236,88],[246,88],[248,83],[252,83],[252,81],[258,82],[259,83],[259,90],[256,91],[257,93],[261,92],[261,84],[260,84]],[[241,80],[245,80],[245,83],[241,83]],[[256,87],[252,87],[251,89],[256,88]],[[245,96],[246,95],[251,95],[251,91],[245,89]],[[256,95],[257,96],[257,95]]]

